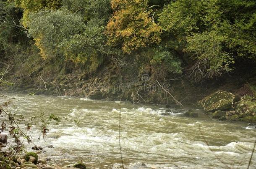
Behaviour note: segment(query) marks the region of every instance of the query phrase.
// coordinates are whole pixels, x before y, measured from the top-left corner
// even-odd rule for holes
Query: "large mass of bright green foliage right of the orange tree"
[[[165,38],[194,60],[196,81],[232,70],[239,56],[255,61],[256,2],[251,0],[177,0],[159,14]]]

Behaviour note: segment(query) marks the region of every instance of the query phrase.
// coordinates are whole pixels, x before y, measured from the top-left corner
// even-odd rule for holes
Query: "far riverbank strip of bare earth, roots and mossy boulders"
[[[134,81],[123,79],[116,74],[115,67],[105,70],[107,73],[88,77],[86,74],[68,74],[42,81],[20,80],[3,91],[31,93],[55,96],[78,96],[91,99],[131,101],[132,103],[193,105],[203,108],[208,116],[219,120],[256,122],[256,82],[233,81],[226,79],[221,85],[210,82],[198,86],[190,81],[157,81],[148,74],[145,79]],[[40,76],[41,77],[41,76]],[[45,78],[44,78],[45,79]],[[185,116],[197,117],[196,113],[187,112]]]

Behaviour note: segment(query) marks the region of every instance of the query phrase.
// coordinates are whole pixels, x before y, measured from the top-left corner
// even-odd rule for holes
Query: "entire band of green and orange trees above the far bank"
[[[1,0],[0,17],[1,68],[21,76],[112,58],[200,82],[256,61],[255,0]]]

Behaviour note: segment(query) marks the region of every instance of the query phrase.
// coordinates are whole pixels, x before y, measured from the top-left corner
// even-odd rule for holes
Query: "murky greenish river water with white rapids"
[[[82,161],[89,169],[118,169],[121,146],[125,166],[143,162],[152,169],[246,169],[256,139],[255,126],[217,121],[203,113],[199,118],[182,116],[188,108],[173,107],[170,115],[163,115],[165,105],[15,94],[0,102],[11,98],[25,118],[41,113],[68,117],[48,125],[45,139],[37,140],[39,119],[29,132],[46,151],[39,158],[50,158],[50,163],[60,166]],[[26,144],[26,150],[33,151],[32,146]],[[256,154],[250,167],[256,168]]]

